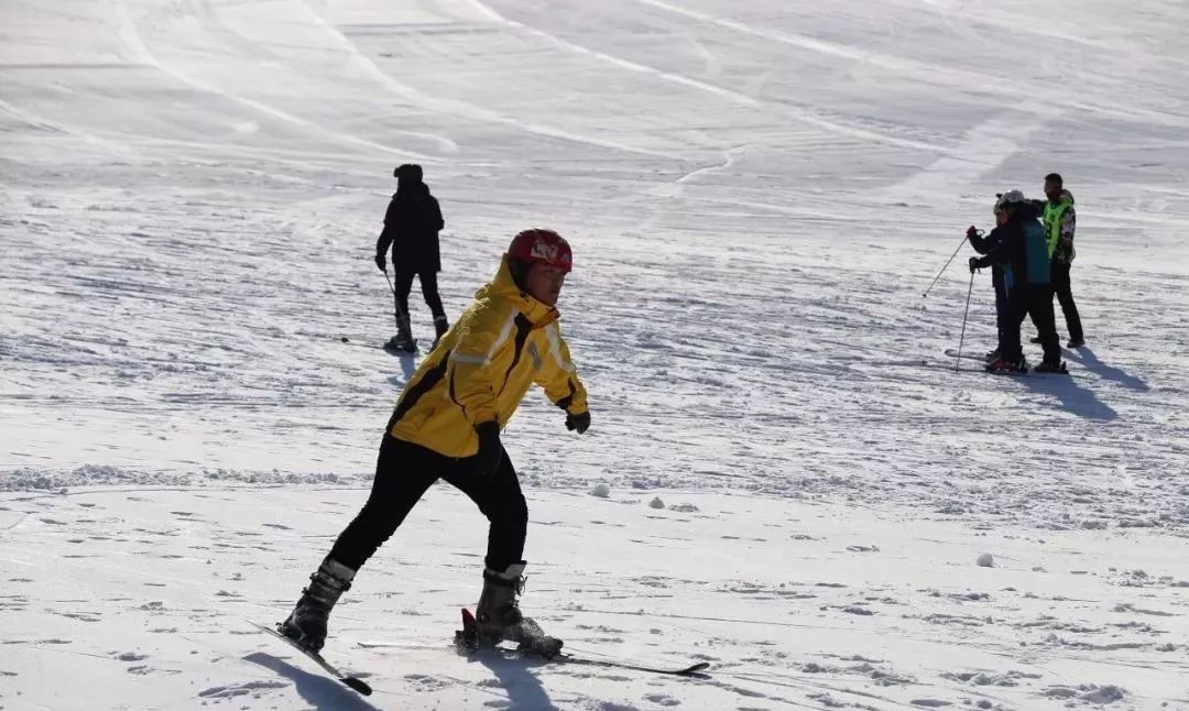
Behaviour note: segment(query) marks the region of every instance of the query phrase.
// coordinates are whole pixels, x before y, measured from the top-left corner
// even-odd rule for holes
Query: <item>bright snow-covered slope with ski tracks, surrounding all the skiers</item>
[[[1189,707],[1189,14],[1019,21],[1056,8],[8,2],[0,709]],[[593,427],[530,395],[507,436],[526,610],[707,679],[458,656],[485,526],[445,486],[332,617],[371,698],[247,624],[416,365],[371,263],[404,161],[452,315],[517,229],[575,246]],[[969,251],[921,292],[1050,170],[1089,346],[955,372]]]

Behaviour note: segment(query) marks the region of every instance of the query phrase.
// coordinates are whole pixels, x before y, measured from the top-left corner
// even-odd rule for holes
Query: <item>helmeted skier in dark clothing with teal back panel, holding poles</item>
[[[1044,227],[1037,221],[1037,209],[1019,190],[999,196],[995,207],[1005,214],[1001,226],[987,237],[998,245],[984,257],[970,258],[970,271],[1000,264],[1007,283],[1007,320],[999,341],[999,358],[987,365],[989,371],[1023,371],[1027,369],[1020,346],[1020,326],[1025,316],[1040,334],[1044,360],[1038,372],[1062,372],[1061,342],[1052,315],[1049,248]]]

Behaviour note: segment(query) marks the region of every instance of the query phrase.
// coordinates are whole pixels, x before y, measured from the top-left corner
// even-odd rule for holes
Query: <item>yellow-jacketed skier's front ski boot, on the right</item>
[[[516,642],[521,652],[551,659],[561,652],[562,642],[546,635],[541,625],[521,614],[516,596],[524,590],[523,573],[523,560],[503,572],[483,571],[483,594],[474,615],[479,635],[491,644],[507,640]]]

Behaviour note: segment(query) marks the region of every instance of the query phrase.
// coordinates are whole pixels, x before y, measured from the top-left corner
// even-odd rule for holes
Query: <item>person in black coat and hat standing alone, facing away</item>
[[[422,181],[421,166],[411,163],[397,166],[397,187],[384,215],[384,229],[376,240],[376,266],[388,273],[385,257],[392,250],[394,289],[396,291],[396,335],[389,345],[401,351],[414,351],[413,328],[409,322],[409,292],[413,277],[421,282],[421,295],[434,315],[434,345],[449,329],[441,296],[438,295],[438,272],[441,271],[441,251],[438,232],[445,226],[438,200]]]

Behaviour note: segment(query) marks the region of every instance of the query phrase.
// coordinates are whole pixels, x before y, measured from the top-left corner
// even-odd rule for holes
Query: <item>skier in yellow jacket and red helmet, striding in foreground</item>
[[[429,486],[445,479],[490,521],[476,610],[480,633],[547,654],[560,649],[517,605],[528,508],[499,432],[533,383],[565,410],[567,428],[581,434],[590,427],[586,389],[570,361],[555,308],[571,263],[570,245],[552,229],[526,229],[512,239],[496,277],[404,386],[384,432],[367,503],[310,575],[278,625],[282,634],[321,649],[331,609],[356,572]]]

